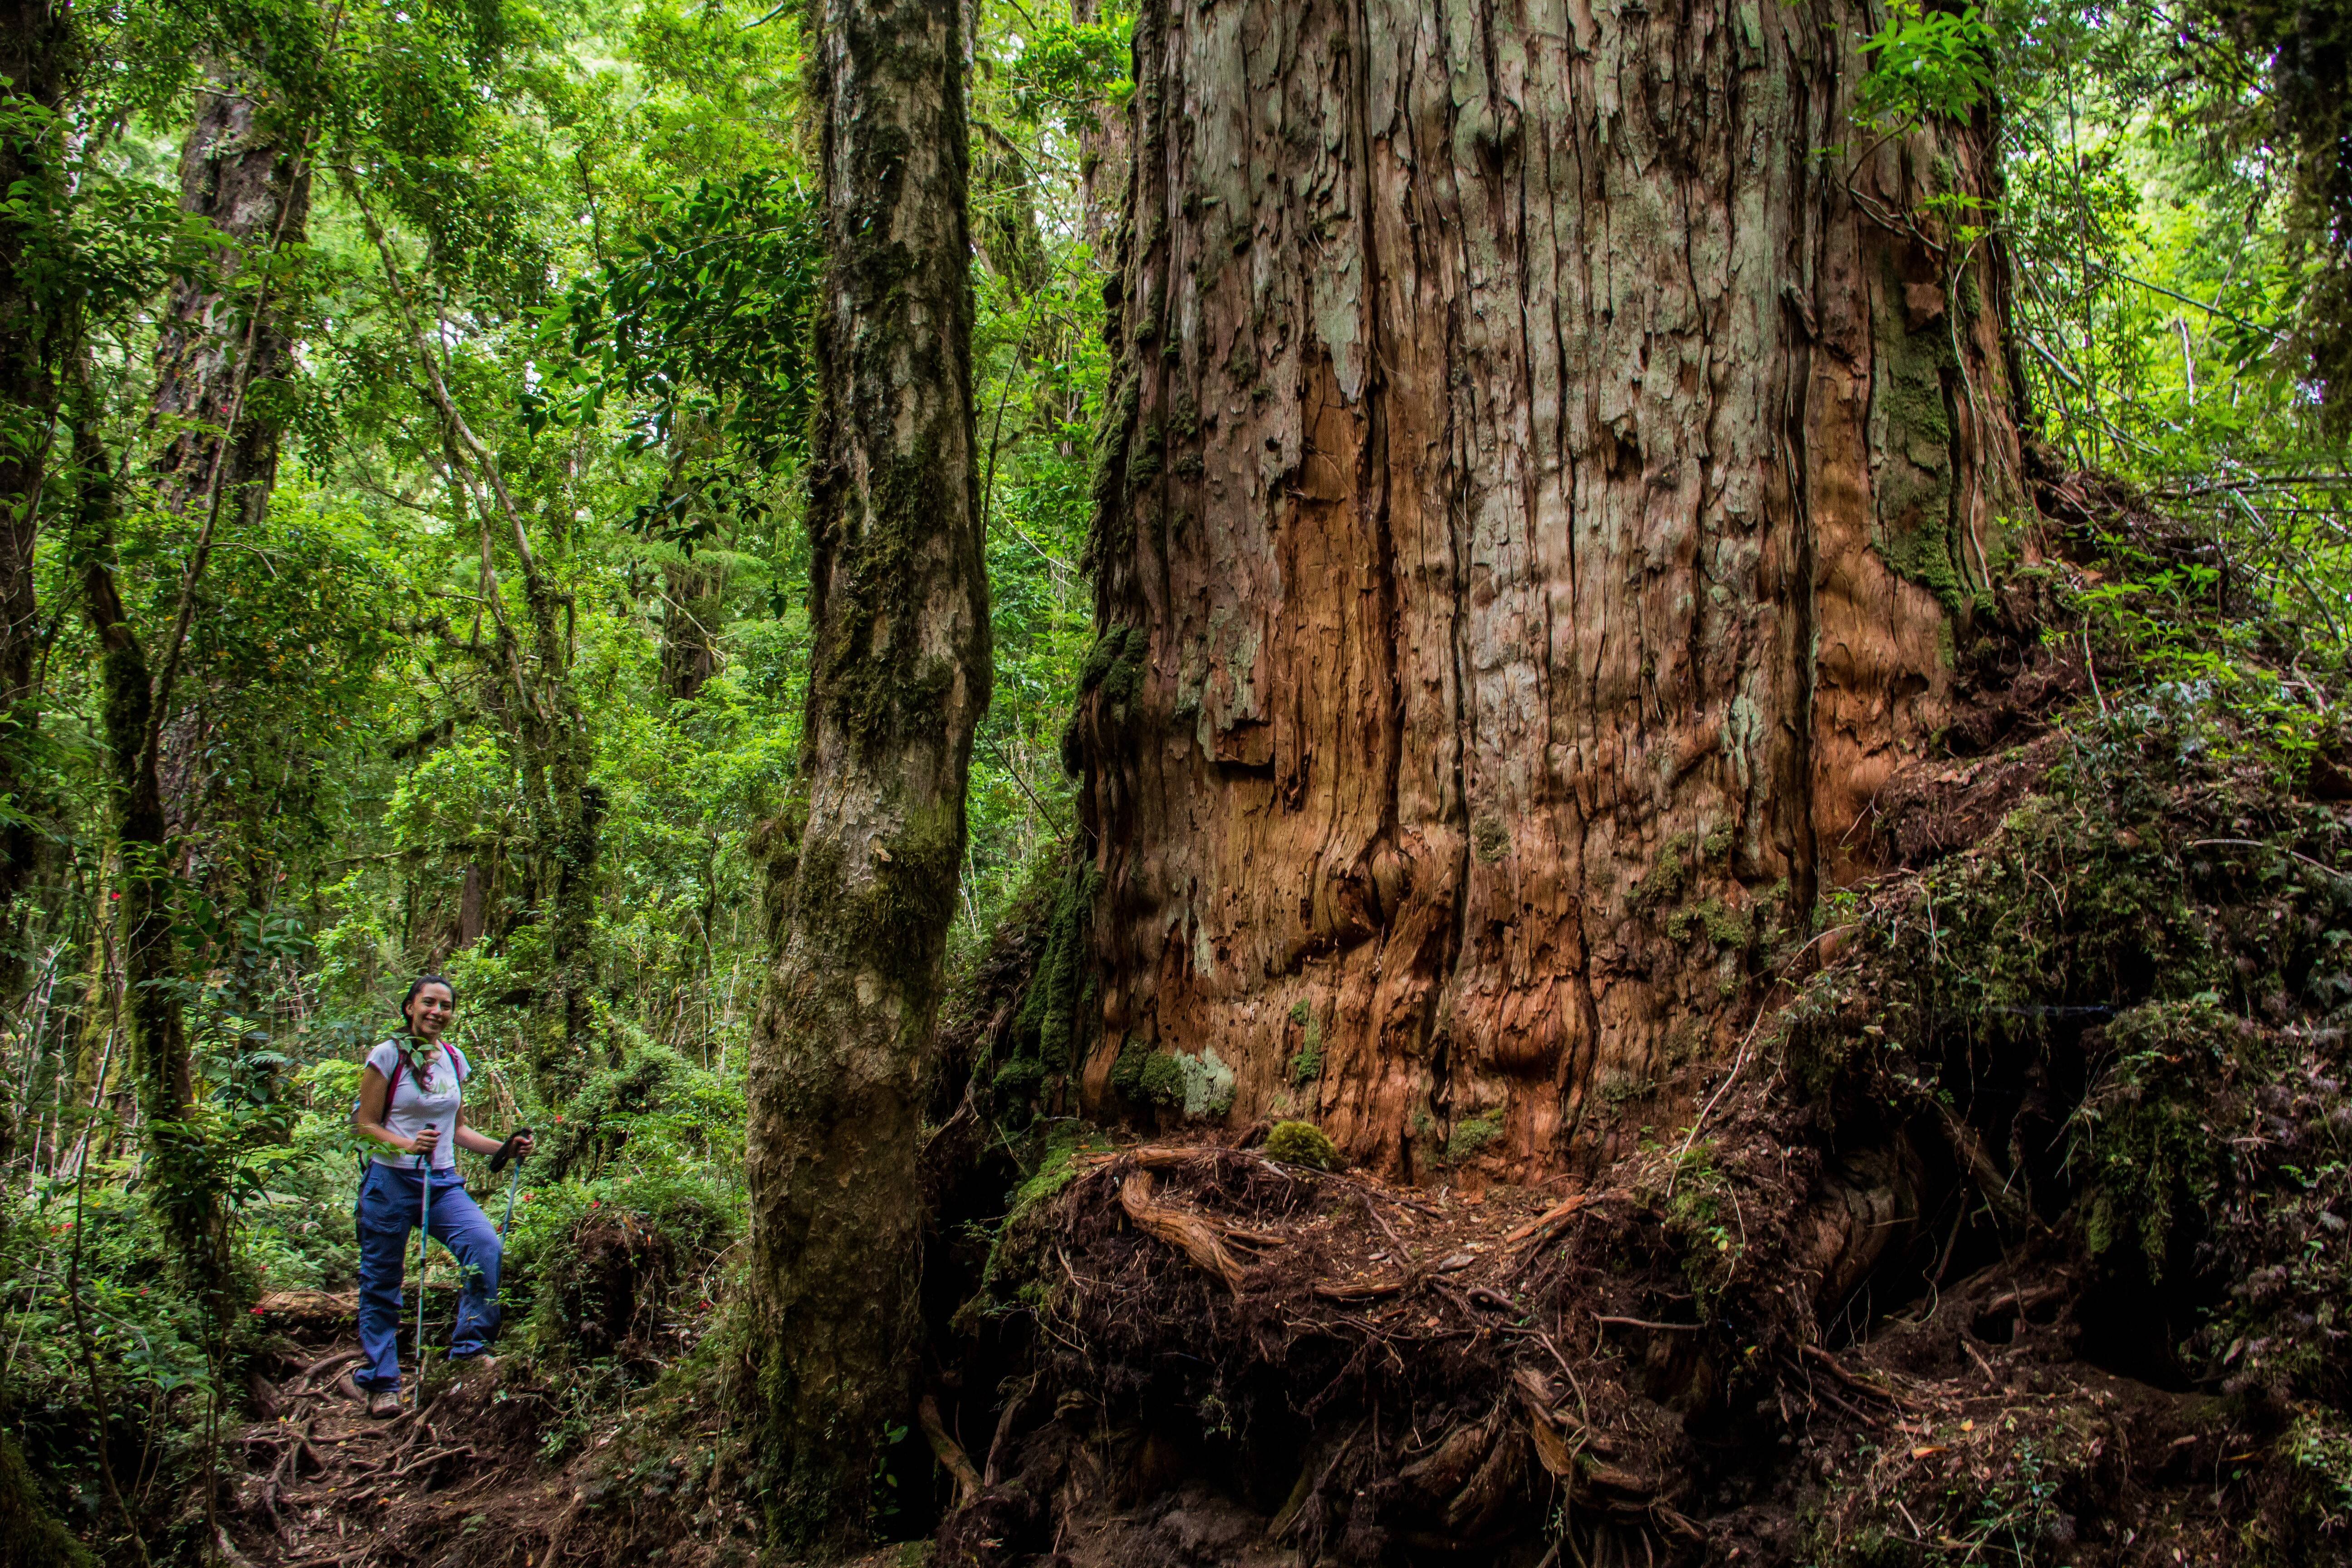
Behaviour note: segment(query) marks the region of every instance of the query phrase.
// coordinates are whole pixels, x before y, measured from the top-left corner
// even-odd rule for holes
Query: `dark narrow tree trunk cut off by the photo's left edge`
[[[40,853],[26,820],[33,736],[40,729],[40,604],[33,550],[40,491],[56,421],[56,369],[68,322],[42,299],[35,261],[56,216],[64,122],[42,127],[66,101],[73,26],[54,0],[0,0],[0,190],[24,193],[0,209],[0,990],[16,987],[16,893]]]

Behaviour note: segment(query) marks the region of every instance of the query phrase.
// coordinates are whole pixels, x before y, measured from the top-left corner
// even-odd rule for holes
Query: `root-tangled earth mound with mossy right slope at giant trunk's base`
[[[1905,785],[1924,865],[1566,1197],[1075,1157],[941,1352],[1018,1387],[943,1561],[2352,1561],[2352,823],[2265,757]]]

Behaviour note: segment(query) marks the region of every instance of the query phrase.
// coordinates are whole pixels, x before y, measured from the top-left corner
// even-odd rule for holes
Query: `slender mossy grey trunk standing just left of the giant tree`
[[[863,1533],[908,1410],[915,1145],[988,705],[957,0],[826,0],[828,277],[797,842],[750,1063],[750,1300],[779,1549]]]

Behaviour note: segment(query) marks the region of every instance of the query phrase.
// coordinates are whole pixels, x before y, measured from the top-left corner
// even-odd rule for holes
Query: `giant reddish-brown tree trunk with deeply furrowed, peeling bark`
[[[1980,136],[1853,127],[1870,31],[1143,9],[1089,1110],[1157,1046],[1402,1173],[1686,1114],[2023,510],[1999,280],[1915,216]]]

